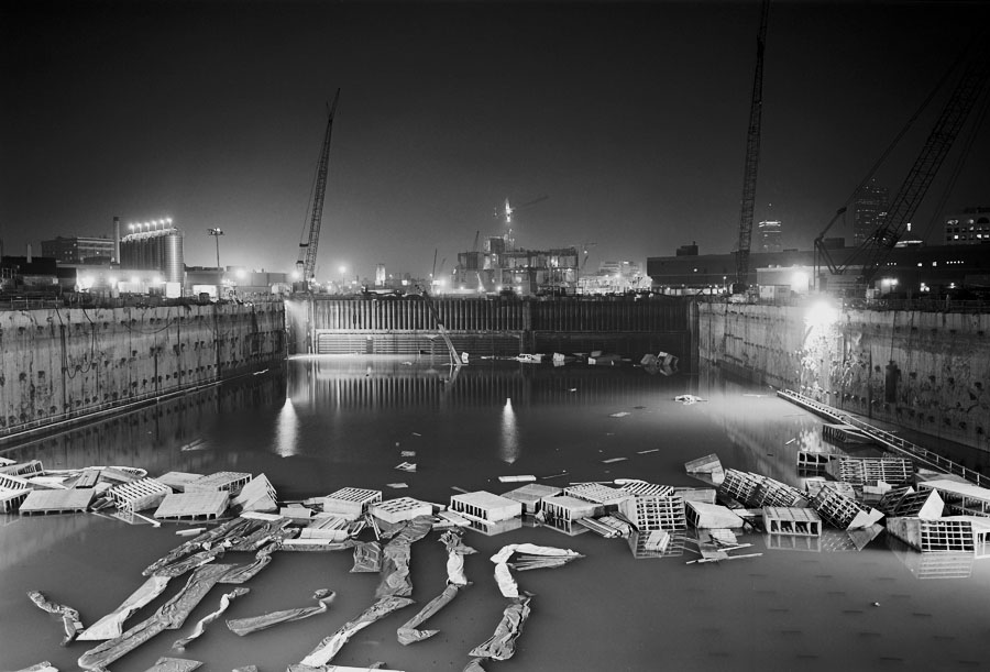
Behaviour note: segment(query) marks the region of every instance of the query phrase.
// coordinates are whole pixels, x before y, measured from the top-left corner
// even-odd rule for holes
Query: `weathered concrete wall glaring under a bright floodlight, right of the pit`
[[[752,381],[990,451],[990,315],[702,304],[698,356]]]

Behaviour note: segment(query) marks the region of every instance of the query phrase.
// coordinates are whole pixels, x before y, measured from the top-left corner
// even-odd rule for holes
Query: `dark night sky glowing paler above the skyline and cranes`
[[[988,10],[773,2],[756,221],[810,249]],[[376,263],[426,275],[435,252],[449,272],[476,231],[503,233],[506,198],[547,197],[515,216],[519,246],[594,242],[588,269],[737,238],[756,0],[15,0],[0,14],[4,254],[109,236],[113,216],[172,217],[188,265],[216,263],[219,227],[223,265],[289,271],[338,88],[317,279]],[[945,98],[880,173],[891,192]],[[947,210],[990,206],[988,125]],[[851,241],[851,218],[831,234]]]

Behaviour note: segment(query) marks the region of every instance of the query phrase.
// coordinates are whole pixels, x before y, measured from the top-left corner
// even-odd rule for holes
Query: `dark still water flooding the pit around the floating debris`
[[[644,478],[702,486],[684,462],[717,453],[726,467],[802,485],[796,452],[827,448],[821,422],[769,390],[714,374],[649,375],[632,367],[553,368],[477,362],[447,381],[447,367],[398,359],[302,359],[268,372],[98,426],[0,452],[37,458],[48,469],[89,464],[211,473],[265,473],[286,499],[340,487],[382,489],[447,503],[455,491],[503,493],[497,476],[535,474],[541,483]],[[706,403],[683,406],[682,393]],[[627,412],[624,417],[613,414]],[[416,473],[394,467],[416,451]],[[603,463],[612,458],[627,458]],[[564,475],[563,472],[566,472]],[[404,482],[405,489],[387,484]],[[177,526],[131,526],[95,515],[0,517],[0,670],[48,660],[75,670],[95,642],[59,647],[61,623],[35,607],[29,590],[81,613],[88,625],[143,581],[141,570],[183,541]],[[419,605],[446,581],[436,533],[413,547]],[[861,551],[832,531],[815,543],[747,535],[759,558],[685,564],[680,555],[637,559],[624,540],[524,527],[495,537],[468,532],[473,585],[424,627],[425,642],[402,647],[396,628],[408,607],[359,632],[333,659],[340,665],[409,672],[461,670],[468,652],[497,625],[506,599],[488,558],[502,546],[534,542],[585,555],[557,570],[517,574],[534,593],[516,656],[491,670],[977,670],[990,641],[990,560],[922,555],[880,535]],[[690,548],[690,547],[689,547]],[[228,554],[222,562],[248,562]],[[309,620],[239,638],[221,621],[185,653],[169,652],[215,610],[213,590],[179,630],[165,631],[111,665],[141,672],[161,656],[204,661],[200,670],[256,664],[263,672],[298,662],[323,637],[374,602],[378,576],[350,573],[350,553],[276,554],[223,618],[310,606],[316,588],[337,592]],[[153,613],[184,580],[133,616]],[[879,603],[879,606],[875,606]]]

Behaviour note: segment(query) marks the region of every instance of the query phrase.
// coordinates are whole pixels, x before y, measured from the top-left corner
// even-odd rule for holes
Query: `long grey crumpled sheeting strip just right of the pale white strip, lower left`
[[[232,564],[211,564],[197,568],[183,590],[162,605],[153,616],[133,626],[120,637],[114,637],[90,649],[79,657],[78,665],[84,670],[106,668],[162,630],[182,628],[196,605],[202,601],[220,577],[234,566]]]

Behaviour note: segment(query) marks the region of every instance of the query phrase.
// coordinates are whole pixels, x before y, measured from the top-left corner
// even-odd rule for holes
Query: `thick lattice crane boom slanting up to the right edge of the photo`
[[[856,284],[859,288],[865,289],[873,280],[880,267],[887,262],[891,250],[904,234],[954,141],[966,123],[966,119],[990,79],[990,45],[987,40],[975,40],[970,48],[976,51],[968,58],[956,88],[949,95],[945,108],[922,146],[914,165],[909,170],[908,177],[891,199],[890,207],[881,218],[880,225],[845,258],[842,265],[833,264],[825,251],[829,272],[833,275],[842,275],[848,267],[861,261],[862,266]],[[836,217],[844,210],[840,210]],[[824,236],[824,233],[823,231],[820,238]],[[815,242],[817,249],[818,241]],[[824,250],[824,246],[822,249]]]

